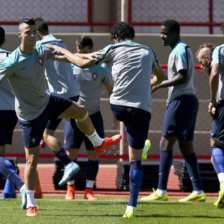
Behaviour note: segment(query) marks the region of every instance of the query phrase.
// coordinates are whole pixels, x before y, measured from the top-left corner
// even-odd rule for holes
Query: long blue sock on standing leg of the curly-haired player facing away
[[[129,171],[129,188],[130,188],[130,198],[128,206],[136,208],[138,194],[142,184],[142,164],[141,161],[130,162],[130,171]]]

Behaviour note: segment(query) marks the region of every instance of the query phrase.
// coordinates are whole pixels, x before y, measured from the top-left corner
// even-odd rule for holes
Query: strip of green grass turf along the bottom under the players
[[[21,209],[20,199],[0,200],[1,224],[221,224],[224,223],[224,210],[217,209],[213,203],[178,203],[175,198],[167,202],[138,204],[136,218],[121,218],[127,197],[99,197],[98,201],[86,201],[76,197],[66,201],[63,197],[44,197],[36,199],[38,217],[26,217]]]

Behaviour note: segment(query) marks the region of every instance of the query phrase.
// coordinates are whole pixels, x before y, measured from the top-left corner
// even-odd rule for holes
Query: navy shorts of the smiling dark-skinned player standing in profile
[[[194,95],[183,95],[172,100],[165,113],[162,136],[193,140],[198,106]]]

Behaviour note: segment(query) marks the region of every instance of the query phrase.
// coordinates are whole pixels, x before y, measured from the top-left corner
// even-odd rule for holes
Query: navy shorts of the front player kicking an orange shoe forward
[[[72,101],[64,97],[50,95],[49,103],[43,113],[31,121],[19,120],[22,127],[23,142],[26,148],[38,146],[43,137],[47,121],[56,119],[68,109]]]

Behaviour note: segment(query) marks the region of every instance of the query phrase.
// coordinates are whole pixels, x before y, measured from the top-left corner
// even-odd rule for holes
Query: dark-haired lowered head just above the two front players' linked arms
[[[91,53],[93,51],[93,40],[91,37],[83,35],[76,40],[75,46],[77,53]]]

